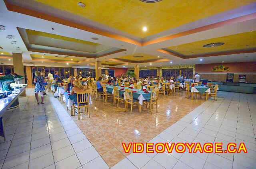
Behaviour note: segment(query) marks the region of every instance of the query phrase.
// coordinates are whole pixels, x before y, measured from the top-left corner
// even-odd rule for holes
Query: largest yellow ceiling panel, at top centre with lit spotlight
[[[81,8],[77,0],[36,1],[138,37],[153,35],[255,2],[255,0],[162,0],[157,3],[144,3],[140,0],[83,0],[86,7]],[[147,31],[142,31],[144,26],[148,28]]]

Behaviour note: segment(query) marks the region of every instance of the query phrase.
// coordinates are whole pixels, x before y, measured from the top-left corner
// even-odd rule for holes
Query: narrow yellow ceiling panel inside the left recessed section
[[[80,40],[80,39],[74,39],[74,38],[71,38],[71,37],[55,35],[55,34],[52,34],[52,33],[46,33],[46,32],[41,32],[41,31],[34,31],[34,30],[30,30],[30,29],[26,29],[26,33],[28,35],[44,36],[44,37],[49,37],[49,38],[52,38],[52,39],[59,39],[59,40],[64,40],[64,41],[83,43],[83,44],[92,45],[92,46],[100,45],[100,44],[94,43],[94,42],[83,41],[83,40]]]

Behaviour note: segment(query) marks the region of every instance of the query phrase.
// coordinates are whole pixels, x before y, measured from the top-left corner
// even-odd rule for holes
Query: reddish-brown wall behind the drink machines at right
[[[228,71],[213,72],[214,66],[223,65],[228,67]],[[214,63],[196,65],[196,72],[201,78],[217,82],[226,82],[226,74],[234,73],[234,83],[239,81],[239,75],[246,75],[246,82],[256,83],[256,62],[241,62],[241,63]]]

